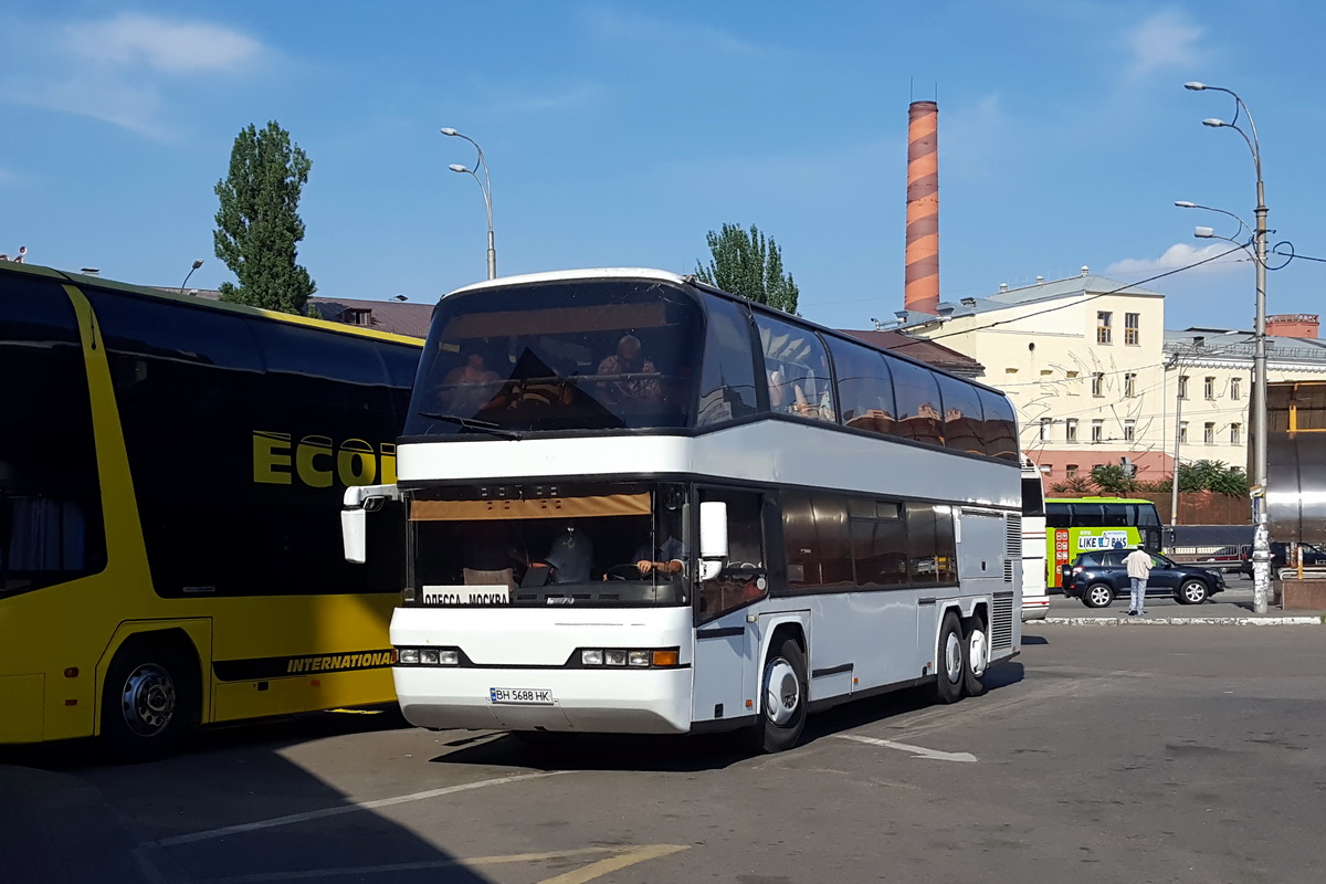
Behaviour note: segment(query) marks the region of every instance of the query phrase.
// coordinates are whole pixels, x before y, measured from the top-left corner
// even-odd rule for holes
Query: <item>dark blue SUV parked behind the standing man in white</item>
[[[1063,566],[1063,595],[1081,599],[1089,608],[1107,608],[1116,598],[1127,599],[1132,591],[1124,557],[1132,550],[1098,550],[1079,553]],[[1151,553],[1151,577],[1147,596],[1168,595],[1180,604],[1201,604],[1225,588],[1225,575],[1219,569],[1179,565]]]

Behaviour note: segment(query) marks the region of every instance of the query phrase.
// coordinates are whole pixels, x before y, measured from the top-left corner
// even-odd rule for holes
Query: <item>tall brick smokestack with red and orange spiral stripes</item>
[[[903,306],[939,311],[939,105],[907,109],[907,284]]]

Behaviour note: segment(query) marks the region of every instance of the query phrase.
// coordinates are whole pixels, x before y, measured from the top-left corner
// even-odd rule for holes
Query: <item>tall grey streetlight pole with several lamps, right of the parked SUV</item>
[[[1235,99],[1235,118],[1232,122],[1211,117],[1201,121],[1203,126],[1212,129],[1232,129],[1242,135],[1252,151],[1253,167],[1257,171],[1257,227],[1253,229],[1253,249],[1257,262],[1257,317],[1253,327],[1253,358],[1252,358],[1252,464],[1253,464],[1253,535],[1252,535],[1252,575],[1253,575],[1253,610],[1257,614],[1266,612],[1266,599],[1270,590],[1270,538],[1266,534],[1266,508],[1262,504],[1266,494],[1266,192],[1261,180],[1261,142],[1257,139],[1257,123],[1253,122],[1248,105],[1244,103],[1238,93],[1221,86],[1208,86],[1201,82],[1184,83],[1184,89],[1191,91],[1223,91]],[[1238,127],[1238,114],[1248,118],[1248,137]]]

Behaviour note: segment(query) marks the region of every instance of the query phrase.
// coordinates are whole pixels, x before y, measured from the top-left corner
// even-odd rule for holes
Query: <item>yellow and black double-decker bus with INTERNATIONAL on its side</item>
[[[0,264],[0,744],[392,700],[399,573],[334,538],[420,345]]]

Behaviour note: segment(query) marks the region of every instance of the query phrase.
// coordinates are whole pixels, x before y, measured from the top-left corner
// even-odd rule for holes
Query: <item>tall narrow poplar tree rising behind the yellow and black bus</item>
[[[221,301],[302,313],[317,286],[294,262],[304,221],[296,211],[309,180],[309,158],[273,119],[259,131],[240,130],[231,171],[216,183],[216,257],[239,280],[221,284]]]

